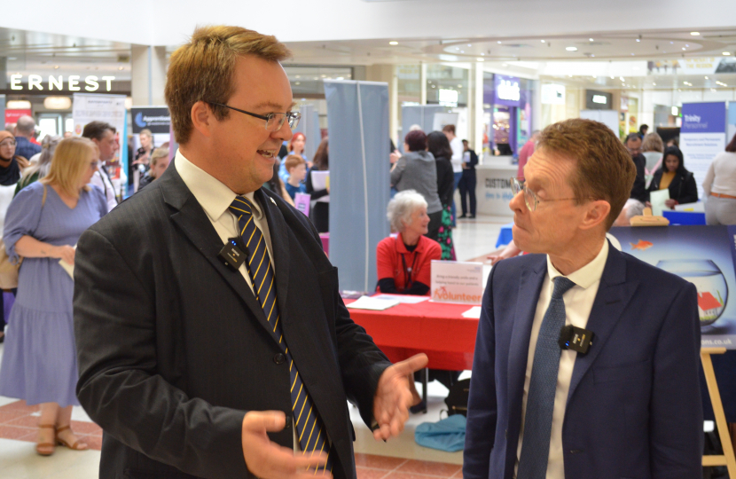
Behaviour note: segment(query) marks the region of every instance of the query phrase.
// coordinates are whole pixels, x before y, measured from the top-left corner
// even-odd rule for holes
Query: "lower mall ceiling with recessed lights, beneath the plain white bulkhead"
[[[723,87],[721,83],[730,88],[736,85],[736,27],[545,37],[382,38],[287,44],[294,52],[294,59],[286,62],[287,65],[340,67],[483,62],[486,69],[499,73],[535,77],[539,71],[554,70],[556,64],[574,63],[579,67],[570,71],[572,76],[556,72],[543,73],[543,78],[568,77],[582,84],[624,89],[715,89]],[[172,45],[168,51],[175,48],[176,45]],[[7,59],[9,74],[90,75],[94,71],[95,75],[115,75],[120,80],[130,78],[129,43],[0,27],[0,58],[3,57]],[[647,62],[669,65],[678,60],[702,57],[716,58],[723,73],[705,78],[706,75],[671,75],[666,68],[650,72],[646,67]],[[606,64],[612,67],[605,67]],[[598,66],[596,74],[583,75],[581,70],[593,65]],[[622,69],[622,65],[632,67]],[[615,72],[609,71],[612,68]]]

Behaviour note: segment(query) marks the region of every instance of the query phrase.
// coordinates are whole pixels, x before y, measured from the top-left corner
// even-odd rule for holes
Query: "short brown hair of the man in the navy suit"
[[[575,161],[576,168],[570,176],[575,199],[578,203],[591,198],[606,200],[611,205],[606,218],[606,230],[610,229],[637,177],[631,155],[614,132],[591,120],[565,120],[545,128],[537,148]]]

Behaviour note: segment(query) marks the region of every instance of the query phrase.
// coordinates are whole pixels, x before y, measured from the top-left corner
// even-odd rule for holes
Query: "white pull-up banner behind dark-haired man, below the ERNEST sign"
[[[107,171],[113,182],[116,196],[122,198],[125,186],[128,184],[128,148],[121,148],[121,146],[127,145],[125,140],[125,95],[74,93],[72,117],[74,119],[74,135],[77,137],[82,136],[84,125],[89,122],[106,122],[114,126],[118,150],[115,152],[113,160],[107,161]]]

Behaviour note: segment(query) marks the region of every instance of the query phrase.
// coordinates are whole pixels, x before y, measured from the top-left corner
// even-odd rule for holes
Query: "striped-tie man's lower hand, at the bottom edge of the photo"
[[[327,454],[294,455],[294,449],[272,443],[268,432],[286,426],[286,415],[280,411],[252,411],[243,418],[243,456],[248,470],[261,479],[309,479],[327,462]],[[322,474],[320,474],[322,476]],[[332,478],[332,475],[324,477]]]

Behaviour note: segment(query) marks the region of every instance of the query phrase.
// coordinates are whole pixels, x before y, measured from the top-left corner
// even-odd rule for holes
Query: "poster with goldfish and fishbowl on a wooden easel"
[[[736,349],[736,298],[730,297],[736,294],[736,226],[616,227],[610,233],[623,252],[695,285],[703,348]]]

